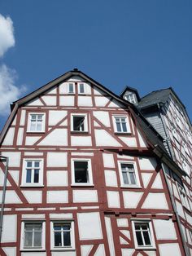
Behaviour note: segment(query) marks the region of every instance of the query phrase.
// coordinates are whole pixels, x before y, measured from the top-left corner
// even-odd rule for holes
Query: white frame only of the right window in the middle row
[[[121,164],[133,165],[136,184],[125,184],[124,183],[124,177],[122,174]],[[137,164],[135,161],[120,160],[120,161],[118,161],[118,167],[119,167],[119,173],[120,173],[120,187],[121,188],[141,188],[141,184],[140,184],[139,176],[138,176]]]

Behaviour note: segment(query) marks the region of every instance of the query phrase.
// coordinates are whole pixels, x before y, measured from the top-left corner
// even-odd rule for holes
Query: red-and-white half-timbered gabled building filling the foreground
[[[0,142],[2,256],[190,255],[166,174],[185,170],[134,104],[85,73],[12,104]]]

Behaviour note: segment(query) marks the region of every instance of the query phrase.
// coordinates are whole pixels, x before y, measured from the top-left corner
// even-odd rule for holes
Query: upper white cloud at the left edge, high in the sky
[[[15,46],[13,22],[9,16],[0,14],[0,57],[12,46]]]

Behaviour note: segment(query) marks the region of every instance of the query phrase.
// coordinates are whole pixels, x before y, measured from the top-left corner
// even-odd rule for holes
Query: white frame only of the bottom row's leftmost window
[[[41,246],[40,247],[24,247],[24,224],[42,224],[42,232],[41,232]],[[21,239],[20,239],[20,250],[22,251],[42,251],[46,249],[45,246],[45,240],[46,240],[46,222],[40,221],[40,220],[27,220],[22,221],[21,223]]]

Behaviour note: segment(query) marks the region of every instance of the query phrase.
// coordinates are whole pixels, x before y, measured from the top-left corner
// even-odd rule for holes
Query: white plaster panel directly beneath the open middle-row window
[[[97,190],[73,190],[74,203],[98,202]]]

